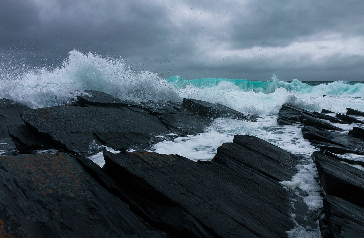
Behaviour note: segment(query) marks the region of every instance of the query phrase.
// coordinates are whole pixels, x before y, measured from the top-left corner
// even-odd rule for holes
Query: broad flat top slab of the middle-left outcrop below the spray
[[[49,136],[59,144],[58,148],[67,151],[92,151],[90,143],[93,140],[102,144],[94,133],[104,135],[109,132],[108,140],[120,136],[120,133],[128,135],[128,144],[120,144],[120,148],[142,144],[148,138],[169,133],[157,118],[118,108],[46,107],[24,111],[21,117],[28,126]],[[144,139],[135,132],[142,134]]]

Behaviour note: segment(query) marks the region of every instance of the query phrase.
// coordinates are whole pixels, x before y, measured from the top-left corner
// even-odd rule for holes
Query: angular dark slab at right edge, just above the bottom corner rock
[[[322,151],[313,152],[312,159],[326,194],[364,206],[364,171],[329,157]]]

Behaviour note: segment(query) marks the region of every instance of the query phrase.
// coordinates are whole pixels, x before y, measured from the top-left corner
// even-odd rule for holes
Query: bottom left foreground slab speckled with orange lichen
[[[165,237],[67,154],[0,156],[0,237]]]

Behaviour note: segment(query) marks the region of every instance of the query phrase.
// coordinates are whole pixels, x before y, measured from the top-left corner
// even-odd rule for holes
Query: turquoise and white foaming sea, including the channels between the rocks
[[[291,181],[282,181],[282,184],[305,191],[307,196],[303,199],[311,211],[323,206],[320,197],[323,191],[310,159],[317,149],[302,138],[299,127],[278,125],[278,111],[282,104],[318,112],[327,109],[345,114],[347,107],[364,111],[363,82],[281,81],[275,75],[262,81],[225,78],[186,80],[180,76],[165,79],[154,72],[136,70],[122,60],[78,51],[71,51],[68,59],[53,69],[32,68],[21,62],[3,62],[0,65],[0,98],[13,99],[31,108],[71,103],[83,90],[102,91],[136,102],[182,102],[183,98],[193,98],[221,103],[244,114],[261,116],[258,122],[217,118],[204,133],[165,140],[154,144],[150,150],[179,154],[191,160],[210,160],[216,148],[224,142],[232,142],[234,135],[257,136],[303,156],[298,166],[299,172]],[[353,127],[332,124],[343,128],[346,133]],[[96,154],[90,159],[102,166],[100,156]],[[355,157],[364,160],[363,156]],[[320,231],[317,226],[308,229],[297,224],[295,229],[288,231],[288,237],[320,237]]]

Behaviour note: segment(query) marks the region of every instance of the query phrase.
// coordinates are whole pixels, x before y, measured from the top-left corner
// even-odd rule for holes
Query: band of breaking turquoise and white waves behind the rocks
[[[364,84],[356,82],[309,85],[297,79],[280,81],[277,76],[272,81],[185,80],[180,76],[162,79],[153,72],[135,70],[122,60],[75,50],[60,67],[52,70],[19,68],[21,65],[6,62],[0,65],[0,98],[32,108],[63,105],[72,102],[83,90],[96,90],[134,101],[178,102],[195,98],[263,116],[276,115],[283,103],[316,111],[325,108],[344,112],[348,104],[364,110]]]

